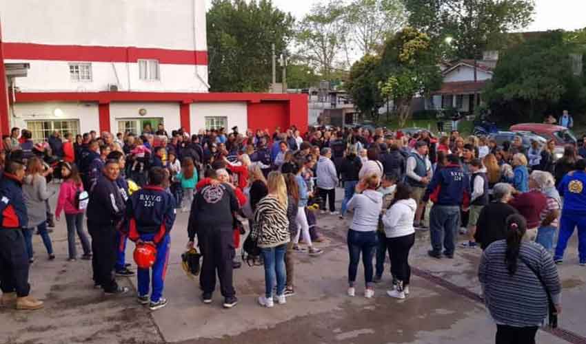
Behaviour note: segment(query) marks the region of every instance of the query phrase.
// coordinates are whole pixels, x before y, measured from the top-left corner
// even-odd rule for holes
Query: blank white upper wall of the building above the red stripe
[[[0,1],[2,34],[6,42],[207,50],[204,1]]]

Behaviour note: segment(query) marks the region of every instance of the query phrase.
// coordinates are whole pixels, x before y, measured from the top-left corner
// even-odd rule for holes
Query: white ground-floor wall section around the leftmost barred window
[[[63,115],[55,116],[55,109],[61,109]],[[80,133],[99,131],[100,127],[97,103],[18,103],[14,112],[10,127],[26,128],[27,120],[79,120]]]

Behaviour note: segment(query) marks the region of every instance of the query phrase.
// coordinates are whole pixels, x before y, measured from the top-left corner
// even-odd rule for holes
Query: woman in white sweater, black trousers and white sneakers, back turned
[[[416,209],[417,204],[411,198],[411,187],[403,183],[397,184],[394,200],[383,215],[387,247],[391,251],[391,273],[393,280],[396,279],[396,285],[387,294],[397,299],[405,299],[409,294],[409,251],[415,243],[413,220]]]

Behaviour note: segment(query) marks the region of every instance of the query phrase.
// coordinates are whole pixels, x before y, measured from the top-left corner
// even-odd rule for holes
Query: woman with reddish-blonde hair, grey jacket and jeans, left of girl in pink
[[[28,226],[23,229],[23,234],[26,241],[28,259],[31,263],[34,261],[32,257],[32,232],[35,227],[37,227],[39,235],[43,239],[49,260],[55,259],[51,238],[47,230],[47,205],[45,202],[55,192],[49,193],[47,189],[47,180],[43,176],[44,169],[41,159],[37,157],[30,158],[26,164],[26,176],[22,184],[28,215]]]

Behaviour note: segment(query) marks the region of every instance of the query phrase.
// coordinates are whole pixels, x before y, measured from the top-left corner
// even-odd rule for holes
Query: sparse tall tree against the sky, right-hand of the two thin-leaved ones
[[[350,38],[361,56],[374,54],[407,19],[401,0],[353,0],[346,9]]]

